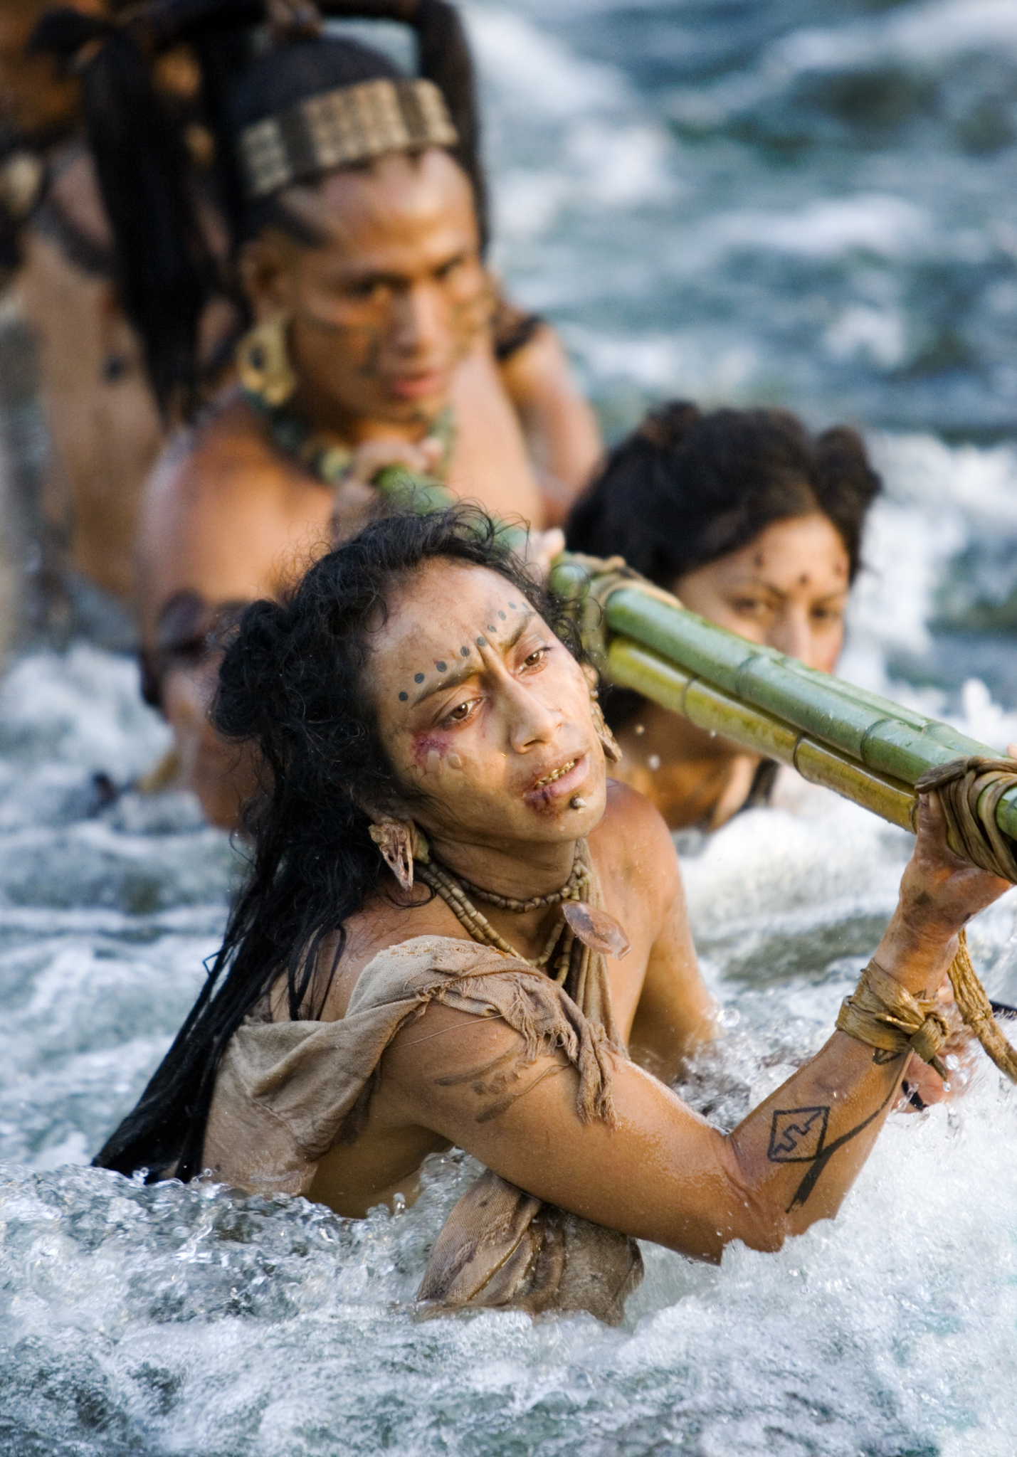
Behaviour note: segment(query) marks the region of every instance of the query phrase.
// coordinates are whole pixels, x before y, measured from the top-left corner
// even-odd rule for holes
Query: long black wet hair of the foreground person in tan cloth
[[[561,605],[522,571],[491,519],[463,507],[377,520],[316,562],[288,602],[245,610],[220,667],[214,723],[254,743],[265,765],[265,791],[246,816],[249,877],[201,995],[99,1167],[144,1167],[154,1179],[176,1166],[176,1177],[192,1179],[219,1061],[248,1013],[283,975],[290,1017],[321,1013],[347,919],[386,889],[363,806],[405,804],[377,733],[367,632],[392,590],[430,561],[497,571],[581,657]],[[329,935],[331,973],[316,978]]]

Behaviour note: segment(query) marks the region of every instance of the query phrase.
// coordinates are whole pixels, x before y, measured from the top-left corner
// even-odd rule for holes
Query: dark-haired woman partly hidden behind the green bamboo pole
[[[810,436],[782,409],[702,414],[676,401],[610,452],[567,541],[618,554],[711,622],[832,673],[879,491],[854,430]],[[613,689],[605,714],[624,749],[618,777],[672,829],[717,829],[772,788],[774,763],[638,694]]]

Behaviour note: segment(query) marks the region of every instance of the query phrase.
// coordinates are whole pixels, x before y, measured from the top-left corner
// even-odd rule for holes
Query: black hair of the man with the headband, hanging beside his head
[[[449,150],[472,184],[485,246],[474,68],[455,7],[446,0],[325,0],[319,9],[328,16],[412,26],[418,71],[441,90],[459,134]],[[325,90],[401,74],[380,51],[353,39],[297,34],[258,55],[255,28],[265,12],[265,0],[152,0],[138,12],[128,10],[124,20],[64,9],[45,15],[29,42],[34,51],[51,51],[80,67],[89,147],[117,240],[121,302],[166,412],[191,414],[201,402],[198,334],[208,302],[226,297],[246,322],[233,268],[239,245],[268,223],[287,227],[303,243],[316,242],[271,200],[248,204],[237,131]],[[153,83],[153,61],[181,44],[191,47],[201,68],[201,122],[214,141],[211,176],[197,168],[185,127]],[[208,245],[200,216],[203,194],[226,223],[226,258],[214,256]]]

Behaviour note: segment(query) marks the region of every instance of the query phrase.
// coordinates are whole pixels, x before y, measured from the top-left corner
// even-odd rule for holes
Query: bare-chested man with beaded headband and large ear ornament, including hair
[[[356,529],[379,466],[439,474],[539,527],[564,517],[600,455],[554,332],[484,264],[455,9],[329,9],[408,22],[420,79],[325,35],[313,6],[254,0],[160,0],[122,25],[51,12],[32,42],[82,73],[125,312],[163,420],[194,420],[146,490],[137,608],[146,696],[220,825],[235,823],[237,793],[233,752],[205,721],[210,638]],[[170,57],[197,71],[189,119],[168,105]],[[338,121],[287,152],[280,138],[309,106],[380,109],[360,115],[353,152]],[[379,118],[392,115],[389,136]]]

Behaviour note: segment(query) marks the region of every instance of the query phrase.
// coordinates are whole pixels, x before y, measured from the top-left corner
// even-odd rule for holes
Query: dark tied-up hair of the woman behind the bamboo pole
[[[571,510],[573,551],[621,555],[657,586],[755,541],[774,522],[822,511],[861,565],[865,513],[881,490],[861,436],[845,425],[812,436],[784,409],[701,412],[686,401],[650,411],[615,446]],[[612,689],[605,712],[621,727],[638,694]]]

